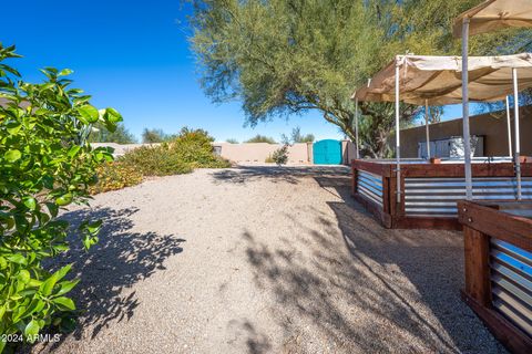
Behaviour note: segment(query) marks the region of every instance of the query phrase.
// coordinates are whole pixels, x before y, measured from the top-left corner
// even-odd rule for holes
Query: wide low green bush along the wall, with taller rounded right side
[[[142,146],[119,160],[144,176],[168,176],[191,173],[194,168],[224,168],[229,163],[214,154],[214,139],[203,129],[183,128],[170,143]]]

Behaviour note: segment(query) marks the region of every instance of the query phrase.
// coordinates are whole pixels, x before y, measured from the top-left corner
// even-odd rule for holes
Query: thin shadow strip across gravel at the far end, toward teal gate
[[[238,166],[213,173],[219,183],[246,184],[258,179],[297,184],[298,177],[349,174],[346,166]]]

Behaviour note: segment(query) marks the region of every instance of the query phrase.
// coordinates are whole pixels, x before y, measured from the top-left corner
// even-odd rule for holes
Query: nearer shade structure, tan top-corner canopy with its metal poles
[[[469,35],[485,33],[503,28],[530,28],[532,27],[532,0],[488,0],[481,4],[461,13],[454,21],[453,34],[462,38],[462,60],[464,75],[463,85],[463,137],[464,137],[464,169],[467,199],[472,199],[472,176],[471,176],[471,145],[469,140],[469,95],[468,95],[468,54]],[[514,81],[518,81],[518,71],[513,71]],[[514,96],[515,133],[519,132],[519,100]],[[518,136],[518,134],[516,134]],[[515,174],[518,179],[518,199],[521,199],[521,165],[519,159],[520,140],[515,138]]]

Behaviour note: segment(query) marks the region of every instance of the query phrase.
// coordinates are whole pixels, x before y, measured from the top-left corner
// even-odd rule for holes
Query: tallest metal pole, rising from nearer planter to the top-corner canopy
[[[462,114],[463,114],[463,167],[466,174],[466,198],[473,199],[473,178],[471,174],[471,137],[469,133],[469,18],[462,22]]]

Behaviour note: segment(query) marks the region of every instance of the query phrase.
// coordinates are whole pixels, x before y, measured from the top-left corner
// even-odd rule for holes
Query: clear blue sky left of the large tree
[[[182,126],[207,129],[217,140],[244,140],[256,134],[279,139],[300,126],[301,133],[340,138],[338,128],[318,113],[276,118],[245,127],[238,102],[213,104],[198,84],[190,51],[186,15],[180,0],[160,1],[17,1],[2,4],[4,45],[16,44],[24,58],[11,62],[25,80],[40,81],[38,69],[74,71],[74,86],[93,96],[98,107],[112,106],[140,137],[145,127],[175,133]],[[446,117],[460,116],[459,107]]]

